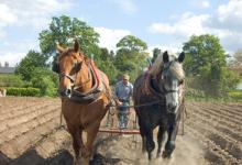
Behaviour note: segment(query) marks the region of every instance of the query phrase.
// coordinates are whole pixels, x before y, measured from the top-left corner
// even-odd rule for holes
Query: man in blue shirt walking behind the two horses
[[[118,118],[119,128],[127,129],[130,113],[130,99],[133,95],[133,85],[129,81],[130,76],[124,74],[122,80],[116,84],[114,96],[117,98],[117,105],[119,106]]]

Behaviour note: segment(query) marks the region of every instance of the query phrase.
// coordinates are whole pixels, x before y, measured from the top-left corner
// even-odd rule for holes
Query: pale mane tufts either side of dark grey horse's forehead
[[[176,55],[169,55],[169,61],[173,61],[173,63],[169,66],[169,69],[174,74],[174,76],[177,77],[177,79],[184,79],[185,73],[183,69],[183,65],[179,62],[174,61],[175,58],[177,58]],[[152,65],[152,68],[150,69],[151,75],[154,77],[160,75],[162,73],[163,66],[163,54],[160,54],[155,59],[154,64]]]

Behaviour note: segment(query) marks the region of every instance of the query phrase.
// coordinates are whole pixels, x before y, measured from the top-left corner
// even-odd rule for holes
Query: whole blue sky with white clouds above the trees
[[[213,34],[227,53],[242,48],[242,0],[0,0],[0,63],[20,63],[40,51],[38,34],[53,16],[85,21],[100,46],[116,51],[125,35],[182,52],[191,35]]]

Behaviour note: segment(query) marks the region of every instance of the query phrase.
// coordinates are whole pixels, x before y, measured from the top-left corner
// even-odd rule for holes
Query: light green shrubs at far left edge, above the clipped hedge
[[[0,75],[0,87],[26,87],[29,82],[19,75]]]

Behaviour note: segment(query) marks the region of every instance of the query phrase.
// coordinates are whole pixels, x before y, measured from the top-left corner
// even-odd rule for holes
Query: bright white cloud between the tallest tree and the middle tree
[[[125,35],[130,35],[128,30],[111,30],[106,28],[95,28],[95,31],[100,34],[99,46],[116,51],[116,44]]]

